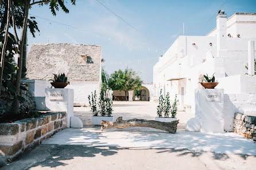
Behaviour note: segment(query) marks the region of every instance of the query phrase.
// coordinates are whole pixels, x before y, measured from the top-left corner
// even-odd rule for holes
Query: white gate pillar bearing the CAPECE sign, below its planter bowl
[[[200,132],[224,132],[224,89],[198,89],[195,91],[196,118]]]

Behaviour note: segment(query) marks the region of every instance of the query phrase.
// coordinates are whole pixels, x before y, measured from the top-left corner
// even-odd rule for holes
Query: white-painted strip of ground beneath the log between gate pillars
[[[104,129],[101,132],[98,127],[64,129],[45,140],[43,144],[186,148],[193,151],[256,155],[254,142],[236,133],[176,132],[171,134],[155,129],[150,131]]]

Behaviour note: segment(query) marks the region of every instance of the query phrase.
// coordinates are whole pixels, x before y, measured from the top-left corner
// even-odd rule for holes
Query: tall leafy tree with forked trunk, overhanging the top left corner
[[[75,0],[70,0],[72,5],[75,5]],[[5,13],[6,11],[6,0],[5,1],[1,1],[1,13],[0,15],[2,17],[0,17],[1,20],[1,28],[5,27],[5,25],[7,24],[7,19],[5,19]],[[23,1],[19,1],[19,0],[13,0],[11,3],[11,19],[12,19],[12,23],[11,26],[13,27],[13,31],[14,31],[14,37],[17,41],[17,46],[18,46],[18,52],[17,52],[17,56],[18,56],[18,65],[17,65],[17,74],[15,77],[15,94],[17,94],[17,96],[20,95],[20,84],[21,84],[21,76],[22,76],[22,66],[24,66],[24,64],[22,64],[22,59],[23,59],[23,54],[24,54],[24,42],[26,39],[26,30],[27,27],[29,27],[30,29],[30,33],[32,33],[32,35],[34,36],[34,33],[36,30],[38,30],[37,27],[37,23],[35,21],[33,21],[34,17],[28,17],[29,15],[29,9],[31,9],[31,7],[33,5],[49,5],[49,8],[51,9],[51,12],[53,15],[56,15],[56,11],[59,11],[59,8],[61,7],[61,9],[65,12],[65,13],[69,13],[67,7],[65,7],[64,5],[65,1],[64,0],[51,0],[51,1],[46,1],[46,0],[23,0]],[[3,7],[3,9],[2,9]],[[9,25],[9,24],[8,24]],[[16,29],[21,29],[21,35],[20,38],[18,38],[17,35],[17,31]],[[13,113],[17,113],[18,112],[18,108],[19,108],[19,100],[18,97],[14,96],[14,101],[13,101]]]

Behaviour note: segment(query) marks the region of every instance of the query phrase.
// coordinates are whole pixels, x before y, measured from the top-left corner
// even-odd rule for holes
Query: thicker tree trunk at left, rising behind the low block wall
[[[17,71],[17,76],[16,76],[16,82],[15,82],[15,89],[16,89],[16,94],[17,95],[20,95],[21,73],[22,73],[22,56],[23,56],[23,48],[24,48],[26,27],[27,27],[27,24],[28,24],[29,3],[30,3],[30,0],[28,0],[26,2],[26,5],[25,5],[24,20],[23,20],[22,31],[21,31],[21,40],[18,43],[18,49],[19,49],[19,52],[18,52],[18,71]],[[17,114],[18,109],[19,109],[19,101],[18,101],[17,97],[14,97],[13,108],[12,108],[11,111],[14,114]]]

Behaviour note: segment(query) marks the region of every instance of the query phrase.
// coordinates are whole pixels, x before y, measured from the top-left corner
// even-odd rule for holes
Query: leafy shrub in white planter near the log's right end
[[[177,94],[175,95],[174,102],[171,105],[170,104],[170,94],[169,92],[166,94],[166,97],[162,95],[162,89],[160,90],[160,96],[158,98],[158,106],[157,106],[157,116],[155,117],[156,121],[162,121],[162,122],[172,122],[174,120],[177,120],[176,114],[177,114]],[[164,115],[163,115],[164,114]],[[170,115],[170,117],[169,117]],[[164,116],[164,117],[162,117]]]

